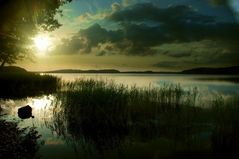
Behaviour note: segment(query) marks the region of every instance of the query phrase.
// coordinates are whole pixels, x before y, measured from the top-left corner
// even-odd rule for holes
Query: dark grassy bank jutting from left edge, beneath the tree
[[[29,72],[0,72],[0,98],[16,99],[55,93],[60,79]]]

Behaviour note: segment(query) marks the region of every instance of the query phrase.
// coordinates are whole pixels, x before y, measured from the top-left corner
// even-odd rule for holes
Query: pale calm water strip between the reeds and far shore
[[[115,83],[138,87],[160,87],[180,84],[183,89],[197,87],[201,92],[239,93],[239,76],[176,75],[176,74],[51,74],[66,81],[75,79],[113,80]]]

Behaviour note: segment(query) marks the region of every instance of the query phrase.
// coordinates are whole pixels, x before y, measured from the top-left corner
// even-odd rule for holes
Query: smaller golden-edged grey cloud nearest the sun
[[[99,24],[94,24],[87,29],[80,30],[71,39],[64,39],[62,43],[53,51],[58,54],[90,53],[93,48],[107,42],[119,42],[123,39],[123,32],[107,31]],[[107,51],[113,49],[110,46],[105,47]],[[99,55],[106,54],[100,51]],[[102,53],[104,52],[104,53]]]

